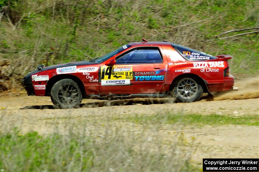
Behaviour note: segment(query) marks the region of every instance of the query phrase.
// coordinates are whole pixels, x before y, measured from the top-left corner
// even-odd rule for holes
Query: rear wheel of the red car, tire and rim
[[[195,77],[183,76],[173,84],[172,96],[180,103],[195,102],[202,96],[202,86]]]

